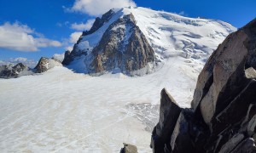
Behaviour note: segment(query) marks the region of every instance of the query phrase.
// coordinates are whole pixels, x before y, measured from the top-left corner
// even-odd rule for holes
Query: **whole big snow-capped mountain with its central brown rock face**
[[[119,71],[128,75],[151,72],[155,64],[169,58],[182,57],[198,65],[233,31],[234,26],[220,20],[148,8],[111,9],[96,18],[90,31],[84,31],[63,64],[83,73]]]

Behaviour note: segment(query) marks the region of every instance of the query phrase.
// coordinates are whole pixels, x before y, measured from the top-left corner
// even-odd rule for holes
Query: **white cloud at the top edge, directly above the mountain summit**
[[[124,8],[132,6],[135,7],[136,3],[132,0],[76,0],[70,11],[90,14],[98,16],[108,12],[111,8]]]

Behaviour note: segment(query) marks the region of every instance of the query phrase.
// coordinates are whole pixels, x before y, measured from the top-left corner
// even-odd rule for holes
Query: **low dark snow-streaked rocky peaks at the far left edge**
[[[32,74],[32,71],[22,63],[0,66],[0,78],[16,78]]]

